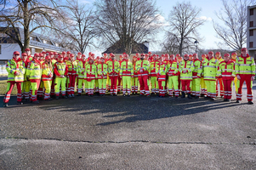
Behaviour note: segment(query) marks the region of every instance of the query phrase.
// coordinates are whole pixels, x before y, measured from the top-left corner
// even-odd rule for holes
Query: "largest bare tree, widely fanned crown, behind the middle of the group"
[[[98,26],[105,45],[119,44],[131,54],[136,42],[154,35],[159,25],[156,4],[151,0],[98,0]]]

